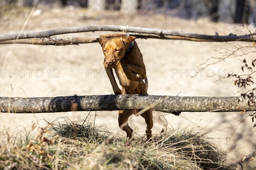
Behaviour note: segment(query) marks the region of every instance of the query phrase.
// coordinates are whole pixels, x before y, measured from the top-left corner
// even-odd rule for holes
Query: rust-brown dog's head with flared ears
[[[119,64],[120,59],[124,57],[129,45],[136,37],[127,36],[124,34],[108,37],[108,35],[101,36],[96,40],[102,46],[103,54],[105,56],[105,67],[113,67]]]

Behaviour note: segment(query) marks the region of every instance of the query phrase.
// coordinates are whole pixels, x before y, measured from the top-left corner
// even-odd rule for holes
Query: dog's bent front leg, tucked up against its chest
[[[125,65],[124,72],[127,78],[131,81],[141,81],[145,79],[146,71],[143,67],[138,65]]]

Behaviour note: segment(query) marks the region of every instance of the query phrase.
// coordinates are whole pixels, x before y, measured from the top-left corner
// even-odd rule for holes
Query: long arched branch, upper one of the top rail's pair
[[[227,36],[219,36],[218,34],[216,35],[193,34],[193,33],[186,33],[183,31],[171,31],[171,30],[154,29],[154,28],[92,25],[92,26],[57,28],[49,31],[4,34],[4,35],[0,35],[0,43],[13,43],[13,41],[10,41],[10,40],[16,40],[15,42],[20,43],[17,40],[28,39],[28,38],[30,39],[48,38],[49,39],[51,36],[60,35],[60,34],[90,32],[90,31],[93,31],[93,32],[94,31],[121,31],[121,32],[127,32],[131,35],[134,35],[137,38],[157,38],[157,39],[169,39],[169,40],[191,40],[191,41],[209,41],[209,42],[227,42],[227,41],[255,42],[256,41],[256,33],[241,35],[241,36],[237,36],[234,34],[229,34]],[[81,43],[88,43],[88,42],[90,41],[86,40],[86,41],[82,41]],[[48,45],[48,44],[43,44],[43,45]],[[57,45],[62,45],[62,44],[57,44]]]

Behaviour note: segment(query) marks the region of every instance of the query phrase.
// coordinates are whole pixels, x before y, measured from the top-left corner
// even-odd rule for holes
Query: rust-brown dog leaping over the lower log
[[[136,37],[126,34],[108,34],[97,38],[102,46],[105,56],[103,64],[115,94],[148,95],[148,82],[143,56],[134,41],[135,39]],[[116,72],[122,90],[116,83],[112,68]],[[145,83],[142,81],[143,79],[145,79]],[[131,139],[133,131],[128,125],[128,117],[137,112],[137,110],[118,111],[119,127],[127,133],[128,139]],[[153,127],[152,111],[148,110],[140,115],[145,119],[147,124],[146,135],[147,139],[150,139],[152,137],[151,128]]]

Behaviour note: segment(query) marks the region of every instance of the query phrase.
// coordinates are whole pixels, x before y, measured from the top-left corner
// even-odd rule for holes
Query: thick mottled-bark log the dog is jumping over
[[[256,111],[256,98],[99,95],[12,98],[0,97],[1,112],[52,113],[68,111],[116,111],[143,108],[179,115],[180,112]]]

